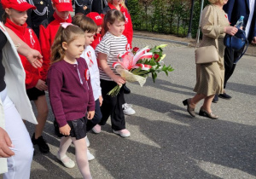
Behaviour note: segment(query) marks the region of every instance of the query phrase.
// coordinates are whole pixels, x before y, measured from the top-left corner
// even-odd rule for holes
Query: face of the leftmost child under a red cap
[[[9,15],[9,19],[16,25],[21,26],[25,24],[27,19],[26,11],[18,11],[15,9],[5,9],[5,12]]]

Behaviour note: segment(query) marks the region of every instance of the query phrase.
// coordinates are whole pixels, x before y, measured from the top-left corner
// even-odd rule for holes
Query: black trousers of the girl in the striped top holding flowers
[[[117,84],[113,81],[107,81],[101,79],[102,86],[102,121],[101,125],[106,124],[109,116],[111,117],[111,124],[113,130],[124,130],[125,129],[125,115],[123,112],[122,104],[124,99],[124,87],[119,91],[119,95],[111,97],[108,92],[112,90]]]

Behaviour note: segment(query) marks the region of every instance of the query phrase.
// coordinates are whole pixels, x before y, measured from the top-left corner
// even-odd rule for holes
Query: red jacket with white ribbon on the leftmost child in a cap
[[[18,26],[14,22],[9,20],[9,18],[7,18],[4,26],[9,27],[9,29],[15,32],[15,34],[21,40],[23,40],[30,48],[36,49],[41,52],[40,43],[38,41],[37,35],[35,34],[35,32],[33,32],[31,28],[27,27],[26,23],[22,26]],[[40,75],[41,68],[33,67],[23,55],[20,55],[20,60],[26,72],[26,90],[32,89],[36,86],[36,84],[38,84],[38,80],[42,78]]]

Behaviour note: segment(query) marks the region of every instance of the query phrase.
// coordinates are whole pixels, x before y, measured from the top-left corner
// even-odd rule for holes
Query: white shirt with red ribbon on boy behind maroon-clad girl
[[[102,95],[100,72],[94,49],[89,45],[84,49],[82,58],[85,59],[90,72],[90,84],[93,90],[94,100],[96,101]]]

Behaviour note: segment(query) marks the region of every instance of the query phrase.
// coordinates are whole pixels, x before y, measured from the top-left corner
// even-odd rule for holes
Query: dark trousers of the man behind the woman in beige
[[[225,67],[225,74],[224,74],[224,88],[226,87],[226,84],[230,77],[232,76],[233,72],[236,68],[236,59],[241,55],[242,49],[235,51],[234,49],[225,49],[224,53],[224,67]]]

